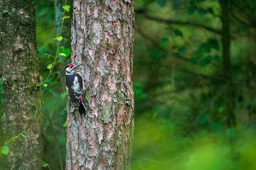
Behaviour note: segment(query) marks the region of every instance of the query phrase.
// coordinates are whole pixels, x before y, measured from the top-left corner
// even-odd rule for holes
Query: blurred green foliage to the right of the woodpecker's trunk
[[[238,4],[228,11],[237,14],[230,14],[231,81],[223,71],[219,1],[156,1],[144,5],[156,19],[137,14],[132,169],[255,169],[255,42],[242,22],[256,16],[248,8],[256,6]],[[232,88],[234,96],[226,96]],[[232,128],[227,101],[235,103]]]

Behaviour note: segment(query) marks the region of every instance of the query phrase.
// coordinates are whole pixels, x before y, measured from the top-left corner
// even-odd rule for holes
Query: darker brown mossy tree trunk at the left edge
[[[6,137],[26,132],[9,145],[9,169],[41,169],[41,89],[32,0],[0,0]]]

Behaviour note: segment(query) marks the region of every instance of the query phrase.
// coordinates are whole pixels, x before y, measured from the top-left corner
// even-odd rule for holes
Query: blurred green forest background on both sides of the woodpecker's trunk
[[[36,0],[35,5],[38,62],[46,77],[58,34],[55,1]],[[220,1],[135,1],[132,170],[256,169],[255,8],[255,0],[230,0],[228,5],[229,77],[223,61],[223,50],[228,49],[222,46]],[[67,57],[59,58],[43,87],[43,160],[51,169],[65,167],[63,66],[70,60],[70,18],[63,31],[60,50]],[[2,105],[1,86],[0,91]],[[228,123],[228,103],[235,125]],[[0,114],[3,125],[3,111]],[[1,129],[0,145],[3,136]],[[0,166],[5,159],[0,157]]]

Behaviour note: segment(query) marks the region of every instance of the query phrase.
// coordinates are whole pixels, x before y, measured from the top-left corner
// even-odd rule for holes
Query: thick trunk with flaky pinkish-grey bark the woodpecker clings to
[[[82,64],[87,114],[68,111],[68,170],[130,168],[133,9],[130,0],[73,3],[72,61]]]

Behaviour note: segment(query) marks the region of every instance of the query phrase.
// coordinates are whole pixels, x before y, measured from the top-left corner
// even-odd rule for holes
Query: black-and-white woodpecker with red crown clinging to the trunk
[[[80,72],[75,72],[80,64],[67,64],[65,67],[65,85],[70,100],[71,112],[79,111],[81,117],[85,115],[85,105],[82,103],[82,93],[84,91],[84,81]]]

